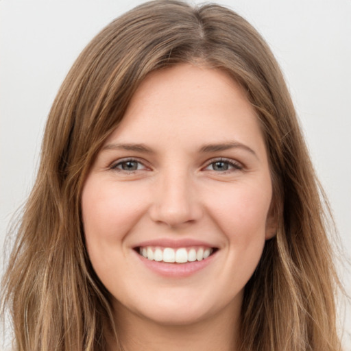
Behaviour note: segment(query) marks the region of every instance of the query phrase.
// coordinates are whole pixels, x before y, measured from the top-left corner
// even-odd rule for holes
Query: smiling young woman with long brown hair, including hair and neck
[[[319,185],[259,34],[154,1],[53,103],[4,298],[17,350],[341,350]]]

